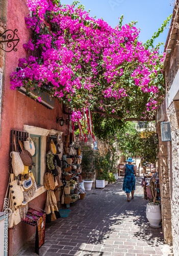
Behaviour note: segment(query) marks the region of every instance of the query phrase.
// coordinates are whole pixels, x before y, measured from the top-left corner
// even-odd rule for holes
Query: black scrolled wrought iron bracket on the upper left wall
[[[4,50],[1,47],[0,47],[0,49],[2,49],[5,52],[11,52],[11,51],[15,51],[16,52],[17,51],[17,48],[15,48],[15,47],[17,46],[17,44],[18,44],[18,42],[20,40],[18,35],[16,34],[17,31],[18,31],[17,29],[14,29],[14,31],[11,30],[11,29],[8,29],[3,34],[0,34],[0,37],[3,37],[3,35],[5,35],[7,33],[7,39],[0,41],[0,43],[1,42],[7,42],[7,47],[10,48],[10,50],[6,51],[6,50]],[[10,32],[12,32],[13,34],[10,33]]]

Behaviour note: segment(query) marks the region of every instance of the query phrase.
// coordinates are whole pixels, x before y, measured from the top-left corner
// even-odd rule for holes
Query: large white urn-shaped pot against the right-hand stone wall
[[[150,227],[159,228],[162,220],[160,205],[147,204],[146,217],[150,223]]]

